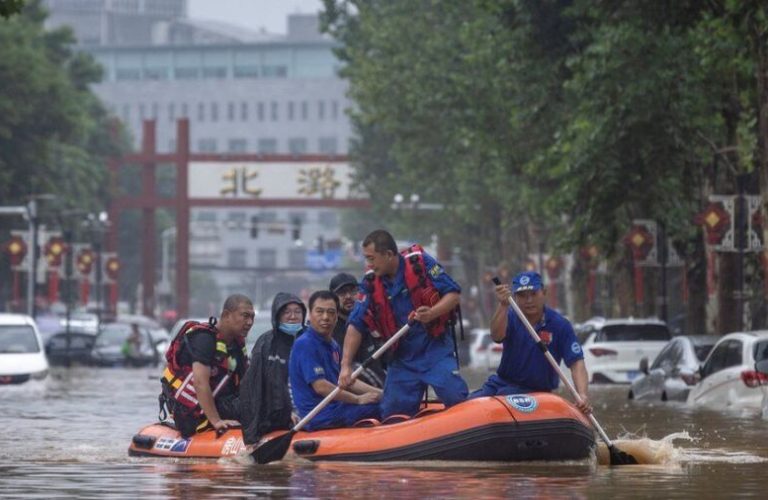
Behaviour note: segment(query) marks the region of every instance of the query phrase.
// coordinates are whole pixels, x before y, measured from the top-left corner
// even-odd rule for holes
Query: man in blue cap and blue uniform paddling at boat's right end
[[[559,364],[571,369],[573,384],[582,398],[576,406],[584,413],[592,408],[589,403],[589,377],[584,365],[584,353],[576,339],[571,323],[554,309],[545,305],[546,289],[541,276],[536,272],[519,273],[507,284],[496,287],[499,303],[491,317],[491,338],[502,343],[504,350],[496,373],[483,386],[470,394],[469,398],[527,392],[551,392],[557,389],[559,378],[547,362],[539,347],[531,338],[520,318],[509,306],[509,297],[523,311],[526,319],[547,344],[547,349]]]

